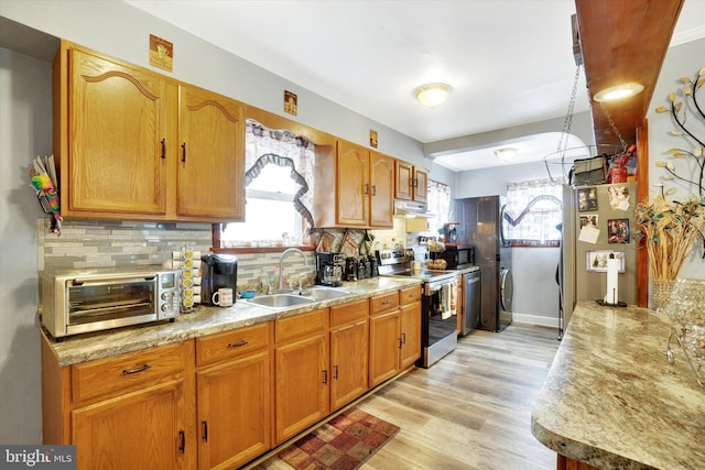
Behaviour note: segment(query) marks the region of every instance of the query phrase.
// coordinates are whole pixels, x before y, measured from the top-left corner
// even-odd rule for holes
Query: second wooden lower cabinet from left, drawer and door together
[[[231,469],[272,447],[270,323],[196,340],[198,468]],[[219,359],[218,359],[219,358]]]

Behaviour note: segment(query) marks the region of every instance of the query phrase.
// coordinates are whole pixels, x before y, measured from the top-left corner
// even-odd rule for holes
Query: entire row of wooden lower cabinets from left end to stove
[[[420,287],[59,367],[42,335],[44,444],[78,469],[238,468],[406,369]]]

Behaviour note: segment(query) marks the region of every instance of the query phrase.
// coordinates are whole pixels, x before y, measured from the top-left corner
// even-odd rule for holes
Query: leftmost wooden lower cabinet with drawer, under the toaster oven
[[[194,342],[59,367],[42,335],[44,444],[78,469],[196,468]]]

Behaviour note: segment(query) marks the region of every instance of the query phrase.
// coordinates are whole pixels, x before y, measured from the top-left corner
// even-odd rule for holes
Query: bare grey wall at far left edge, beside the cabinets
[[[52,153],[51,64],[0,48],[0,442],[42,438],[37,218],[29,185]]]

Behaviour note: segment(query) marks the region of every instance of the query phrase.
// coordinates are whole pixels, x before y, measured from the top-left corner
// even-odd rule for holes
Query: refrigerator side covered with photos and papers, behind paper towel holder
[[[609,253],[623,260],[618,274],[618,300],[636,303],[636,183],[564,187],[560,278],[565,327],[578,300],[604,300],[607,273],[601,261]],[[582,236],[584,227],[588,230]]]

